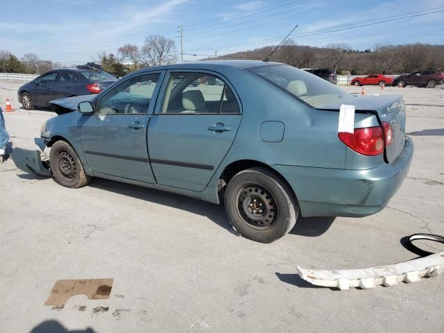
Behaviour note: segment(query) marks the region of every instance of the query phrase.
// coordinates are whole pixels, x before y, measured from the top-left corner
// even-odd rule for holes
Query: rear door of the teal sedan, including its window
[[[225,78],[207,71],[169,71],[160,96],[148,126],[156,182],[202,191],[237,134],[239,99]]]

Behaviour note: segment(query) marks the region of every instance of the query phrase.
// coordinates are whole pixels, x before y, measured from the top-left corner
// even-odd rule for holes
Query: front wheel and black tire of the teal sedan
[[[49,164],[54,180],[71,189],[84,187],[91,180],[83,169],[76,151],[65,141],[58,141],[51,147]]]

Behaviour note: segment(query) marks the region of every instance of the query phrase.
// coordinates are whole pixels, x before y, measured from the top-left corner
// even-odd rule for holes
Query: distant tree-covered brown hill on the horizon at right
[[[275,46],[239,51],[219,59],[264,60]],[[214,59],[214,58],[207,58]],[[350,71],[353,75],[384,73],[411,73],[421,69],[443,69],[444,45],[376,44],[373,50],[352,50],[348,44],[330,44],[325,47],[300,46],[287,40],[271,56],[272,61],[299,68],[330,68],[338,72]]]

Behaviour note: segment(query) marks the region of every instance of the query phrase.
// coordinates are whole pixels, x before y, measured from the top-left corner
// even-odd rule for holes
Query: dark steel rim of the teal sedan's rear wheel
[[[265,231],[273,228],[279,218],[279,209],[273,194],[266,187],[248,183],[234,196],[236,213],[246,228]]]

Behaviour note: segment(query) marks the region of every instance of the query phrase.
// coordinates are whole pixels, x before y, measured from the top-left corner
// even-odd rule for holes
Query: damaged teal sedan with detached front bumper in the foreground
[[[264,243],[298,216],[379,212],[413,156],[402,96],[353,96],[276,62],[148,67],[51,103],[70,112],[36,139],[49,164],[16,149],[21,169],[65,187],[100,177],[223,203],[239,234]]]

